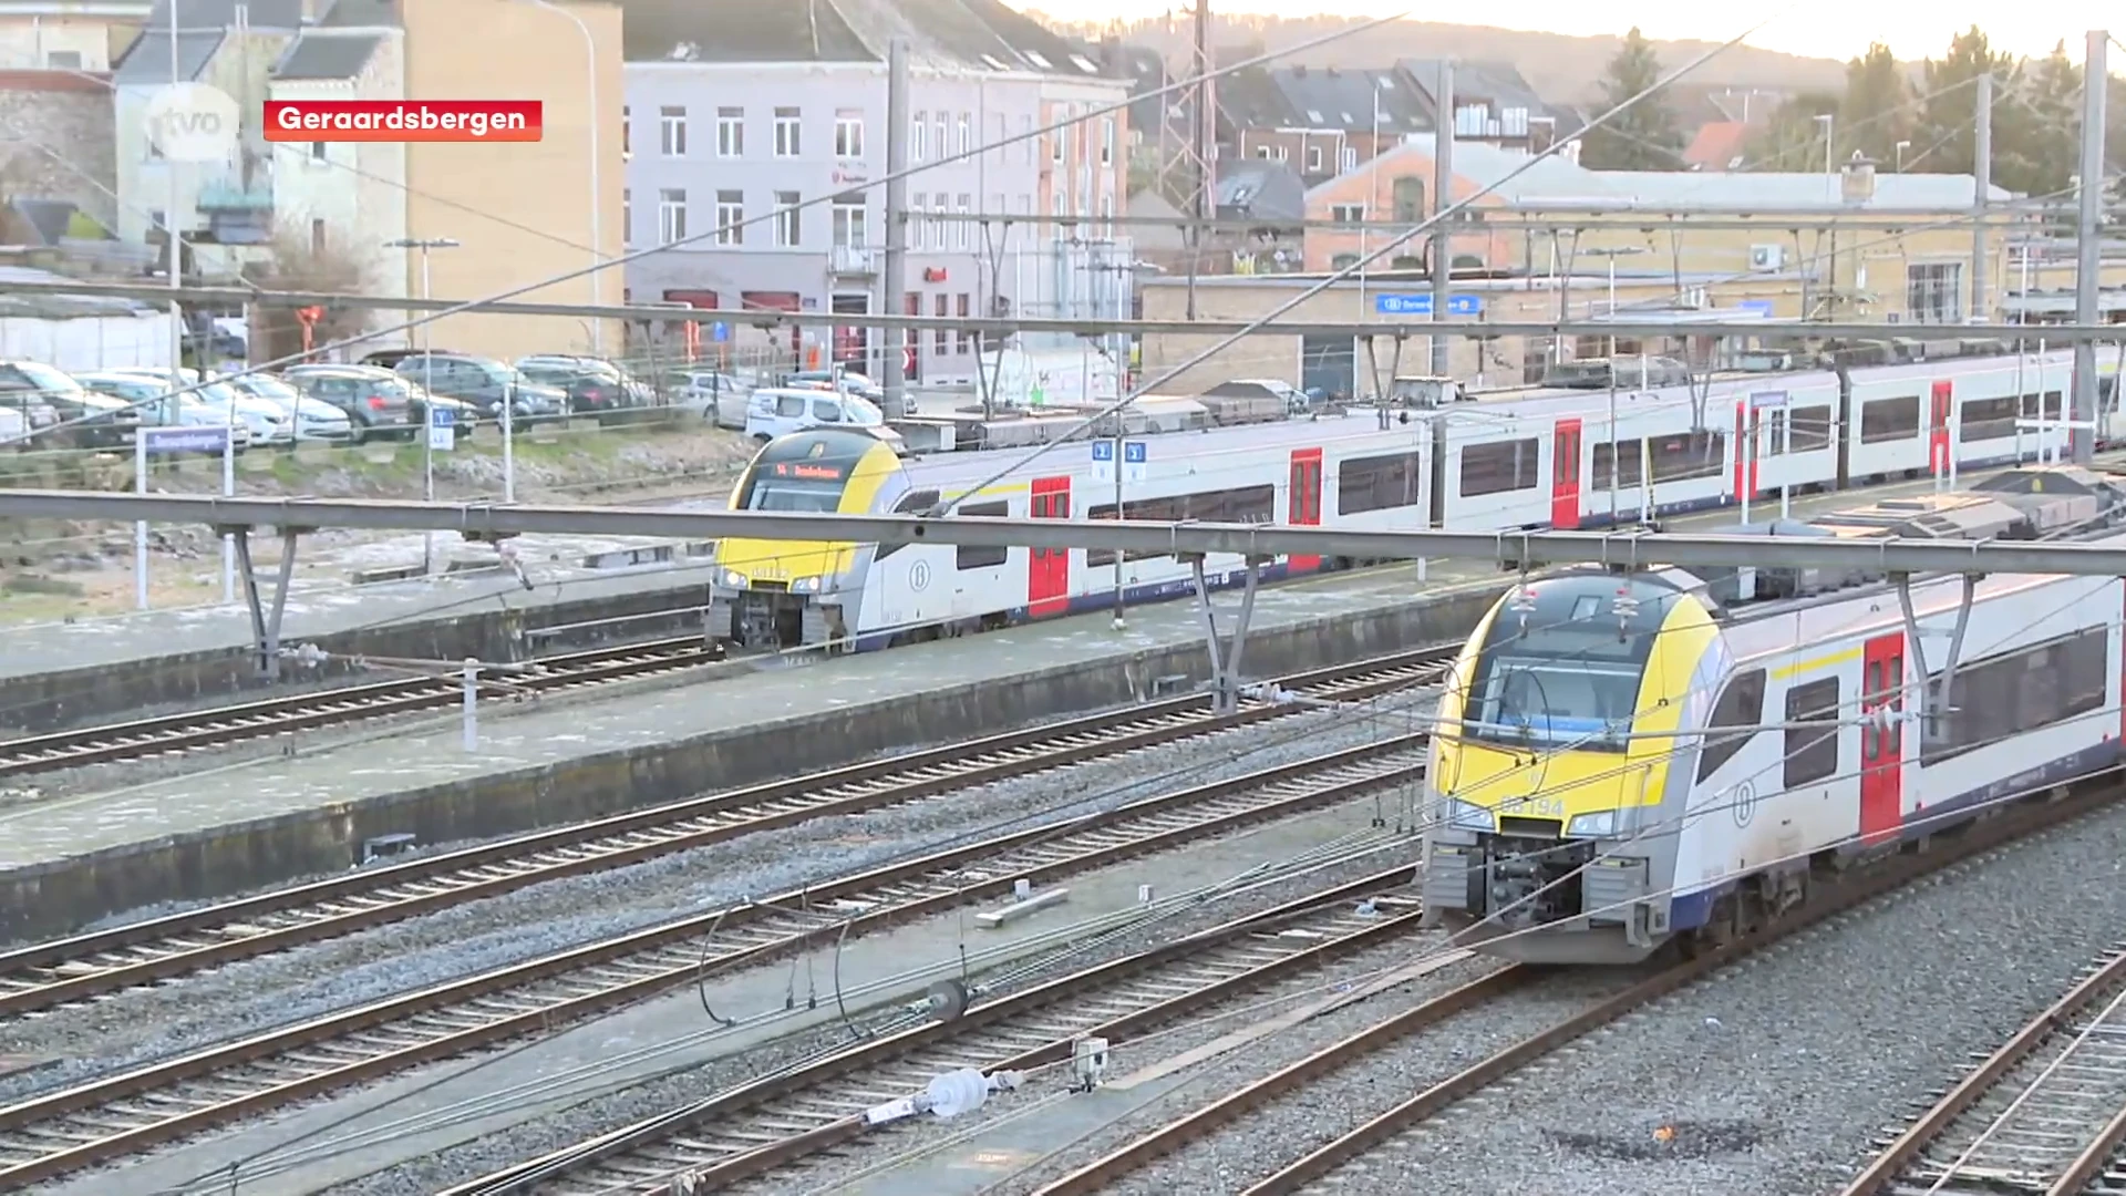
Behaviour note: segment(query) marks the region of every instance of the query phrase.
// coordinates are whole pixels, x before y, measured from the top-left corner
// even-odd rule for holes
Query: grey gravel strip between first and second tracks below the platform
[[[1422,698],[1412,698],[1422,709]],[[1407,728],[1301,713],[1125,758],[850,817],[750,834],[629,868],[532,885],[427,917],[55,1009],[0,1028],[0,1053],[57,1064],[0,1081],[0,1102],[117,1068],[991,834],[1290,764]],[[1393,821],[1395,802],[1382,813]]]

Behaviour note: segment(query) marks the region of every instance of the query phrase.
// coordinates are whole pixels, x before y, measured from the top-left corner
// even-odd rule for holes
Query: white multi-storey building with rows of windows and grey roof
[[[910,45],[910,121],[887,128],[887,51]],[[1125,115],[1069,136],[976,147],[1120,104],[1129,79],[995,4],[967,0],[750,0],[627,23],[627,245],[672,245],[627,266],[634,302],[838,311],[882,306],[889,138],[908,164],[906,311],[1118,315],[1129,243],[1099,217],[1127,196]],[[802,200],[831,202],[789,211]],[[921,215],[918,215],[921,213]],[[959,217],[991,217],[986,221]],[[1057,221],[1050,217],[1082,217]],[[823,355],[825,345],[791,345]],[[916,379],[967,381],[969,336],[914,347]],[[833,334],[874,360],[863,328]]]

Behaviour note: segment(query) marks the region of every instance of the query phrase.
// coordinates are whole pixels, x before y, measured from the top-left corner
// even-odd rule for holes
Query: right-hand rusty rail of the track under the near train
[[[1786,938],[1799,930],[1822,924],[1839,913],[1852,911],[1869,900],[1886,896],[1903,885],[1918,881],[1930,873],[1939,873],[1952,864],[1971,860],[1996,847],[2022,838],[2026,834],[2054,828],[2077,819],[2086,813],[2103,809],[2126,796],[2126,787],[2120,785],[2115,770],[2107,770],[2098,777],[2083,779],[2077,783],[2079,794],[2069,796],[2060,802],[2047,802],[2045,794],[2052,790],[2047,785],[2037,796],[2026,800],[2022,809],[2005,811],[2001,817],[1979,821],[1956,834],[1954,838],[1937,836],[1933,841],[1933,851],[1926,853],[1899,853],[1892,856],[1875,868],[1865,868],[1860,875],[1845,883],[1828,887],[1824,900],[1811,900],[1794,917],[1756,930],[1726,947],[1705,951],[1692,960],[1686,960],[1660,975],[1648,977],[1635,983],[1622,994],[1603,1000],[1601,1004],[1582,1011],[1565,1021],[1558,1021],[1550,1030],[1524,1039],[1499,1053],[1465,1068],[1463,1073],[1444,1079],[1424,1092],[1412,1096],[1410,1100],[1397,1104],[1395,1109],[1365,1122],[1363,1126],[1350,1130],[1348,1134],[1322,1145],[1320,1149],[1307,1153],[1305,1158],[1293,1162],[1290,1166],[1278,1170],[1276,1175],[1263,1179],[1248,1187],[1242,1196],[1295,1196],[1307,1185],[1322,1183],[1335,1175],[1344,1164],[1373,1151],[1376,1147],[1403,1136],[1431,1122],[1435,1115],[1448,1107],[1465,1100],[1467,1096],[1499,1083],[1501,1079],[1526,1068],[1529,1064],[1541,1060],[1550,1051],[1599,1030],[1626,1013],[1646,1007],[1697,979],[1711,975],[1714,970],[1760,951],[1762,947]],[[1352,1177],[1356,1183],[1359,1179]]]

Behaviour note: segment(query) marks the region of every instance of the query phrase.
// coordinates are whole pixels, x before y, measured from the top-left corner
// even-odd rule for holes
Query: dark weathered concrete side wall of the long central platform
[[[1373,611],[1259,632],[1248,672],[1278,677],[1469,632],[1499,587],[1478,583]],[[921,647],[906,651],[923,651]],[[1208,677],[1203,645],[1057,664],[1008,681],[935,690],[914,700],[844,707],[742,732],[674,738],[655,751],[585,755],[332,811],[130,847],[0,875],[0,938],[66,934],[164,900],[202,900],[319,873],[344,873],[361,843],[412,832],[421,843],[495,836],[597,817],[714,790],[831,768],[910,745],[950,743],[1152,696],[1159,679]],[[812,745],[802,764],[791,745]]]

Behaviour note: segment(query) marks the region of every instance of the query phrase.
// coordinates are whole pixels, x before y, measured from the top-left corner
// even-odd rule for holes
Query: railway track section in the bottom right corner
[[[1922,1109],[1843,1196],[2083,1196],[2126,1183],[2126,943]],[[2109,1179],[2109,1183],[2100,1183]]]

